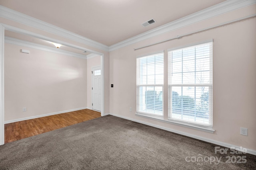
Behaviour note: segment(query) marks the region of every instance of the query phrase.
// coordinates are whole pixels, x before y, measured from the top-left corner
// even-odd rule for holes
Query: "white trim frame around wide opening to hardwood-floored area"
[[[105,115],[104,113],[104,54],[103,53],[86,49],[84,47],[70,44],[58,39],[53,39],[51,37],[46,37],[44,35],[40,35],[38,33],[27,31],[18,27],[0,23],[0,145],[4,145],[4,30],[29,35],[39,39],[44,39],[46,41],[56,42],[68,47],[72,47],[72,48],[80,49],[82,51],[88,51],[90,53],[100,55],[100,67],[102,70],[102,100],[101,100],[102,106],[101,106],[100,115],[101,116]]]

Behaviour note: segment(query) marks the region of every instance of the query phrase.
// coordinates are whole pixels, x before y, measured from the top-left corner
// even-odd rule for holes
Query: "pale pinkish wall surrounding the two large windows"
[[[134,51],[134,48],[251,14],[256,14],[255,5],[111,51],[110,84],[114,84],[114,88],[110,88],[110,113],[200,138],[256,150],[254,133],[256,131],[256,18]],[[168,49],[207,39],[214,39],[213,129],[215,132],[212,134],[136,116],[136,57],[164,50],[166,59]],[[167,76],[166,74],[165,80]],[[166,88],[164,95],[164,110],[167,111]],[[132,112],[129,112],[129,107],[132,107]],[[240,127],[248,128],[248,136],[240,135]]]

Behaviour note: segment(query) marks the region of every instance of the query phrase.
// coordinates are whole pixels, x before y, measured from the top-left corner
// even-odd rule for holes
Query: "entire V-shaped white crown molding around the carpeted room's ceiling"
[[[161,34],[164,34],[164,33],[170,32],[170,31],[174,31],[176,29],[180,29],[182,27],[186,27],[188,25],[191,25],[191,24],[194,24],[194,23],[197,23],[200,21],[214,18],[216,16],[220,16],[222,14],[232,12],[232,11],[238,10],[240,8],[250,6],[255,3],[256,3],[256,0],[227,0],[225,2],[217,4],[215,6],[211,6],[209,8],[206,8],[206,9],[196,12],[194,14],[185,16],[183,18],[172,21],[170,23],[167,23],[165,25],[162,25],[162,26],[152,29],[150,31],[144,32],[140,35],[136,35],[134,37],[131,37],[129,39],[126,39],[124,41],[121,41],[119,43],[111,45],[109,47],[107,45],[98,43],[98,42],[88,39],[86,37],[82,37],[78,34],[72,33],[70,31],[62,29],[60,27],[56,27],[50,23],[46,23],[44,21],[27,16],[25,14],[11,10],[11,9],[1,6],[1,5],[0,5],[0,14],[1,14],[2,18],[6,18],[8,20],[16,21],[18,23],[22,23],[22,24],[25,24],[25,25],[28,25],[28,26],[31,26],[31,27],[34,27],[37,29],[41,29],[41,30],[47,31],[49,33],[59,35],[61,37],[65,37],[65,38],[77,41],[79,43],[89,45],[91,47],[101,49],[104,51],[113,51],[113,50],[125,47],[127,45],[131,45],[133,43],[137,43],[139,41],[143,41],[145,39],[155,37],[157,35],[161,35]]]

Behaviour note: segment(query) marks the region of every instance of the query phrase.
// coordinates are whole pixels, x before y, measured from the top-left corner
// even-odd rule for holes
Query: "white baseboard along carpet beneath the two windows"
[[[177,131],[177,130],[174,130],[174,129],[170,129],[170,128],[154,125],[152,123],[147,123],[147,122],[144,122],[144,121],[139,121],[139,120],[136,120],[136,119],[131,119],[129,117],[124,117],[124,116],[116,115],[114,113],[108,113],[108,114],[116,116],[116,117],[120,117],[120,118],[123,118],[123,119],[127,119],[127,120],[130,120],[130,121],[134,121],[134,122],[137,122],[137,123],[142,123],[144,125],[156,127],[158,129],[163,129],[163,130],[166,130],[166,131],[170,131],[170,132],[173,132],[173,133],[184,135],[184,136],[187,136],[187,137],[192,137],[194,139],[198,139],[198,140],[201,140],[201,141],[209,142],[209,143],[212,143],[212,144],[215,144],[215,145],[220,145],[222,147],[226,147],[226,148],[231,148],[231,147],[240,148],[240,146],[234,146],[234,145],[231,145],[231,144],[228,144],[228,143],[223,143],[223,142],[220,142],[220,141],[215,141],[215,140],[212,140],[212,139],[208,139],[208,138],[204,138],[204,137],[200,137],[200,136],[196,136],[196,135],[191,135],[189,133],[184,133],[184,132]],[[256,155],[256,150],[247,149],[247,153]]]

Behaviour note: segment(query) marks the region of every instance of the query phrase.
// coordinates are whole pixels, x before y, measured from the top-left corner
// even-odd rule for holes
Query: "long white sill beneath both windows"
[[[208,132],[208,133],[214,133],[215,132],[215,130],[212,129],[212,127],[202,127],[200,125],[191,125],[191,124],[186,123],[186,122],[176,122],[176,121],[164,120],[164,117],[151,116],[151,115],[146,115],[146,114],[138,113],[138,112],[135,115],[140,116],[140,117],[146,117],[146,118],[157,120],[157,121],[162,121],[164,123],[171,123],[171,124],[174,124],[174,125],[188,127],[188,128],[191,128],[191,129],[196,129],[196,130],[200,130],[200,131],[204,131],[204,132]]]

